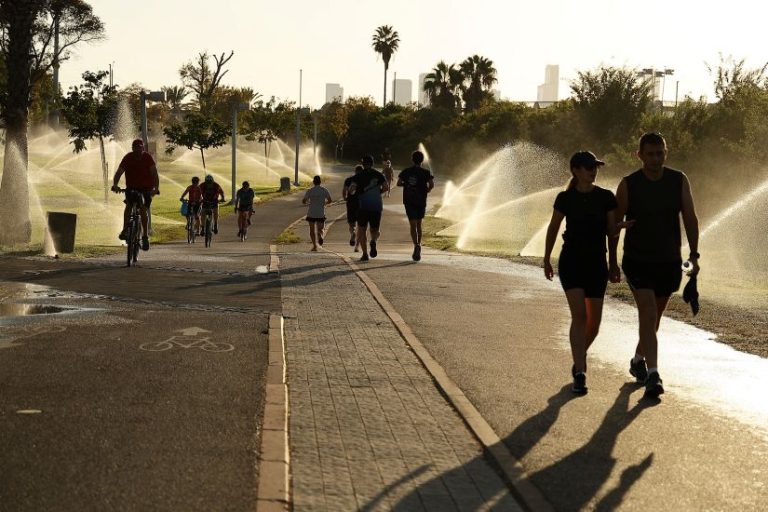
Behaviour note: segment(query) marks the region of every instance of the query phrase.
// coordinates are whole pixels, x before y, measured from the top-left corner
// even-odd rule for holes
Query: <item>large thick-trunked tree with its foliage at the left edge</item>
[[[6,127],[0,182],[2,244],[26,243],[31,238],[27,128],[33,84],[66,59],[74,45],[103,37],[103,30],[82,0],[0,2],[0,55],[8,77],[13,77],[0,91],[0,115]],[[56,31],[58,47],[53,44]]]

